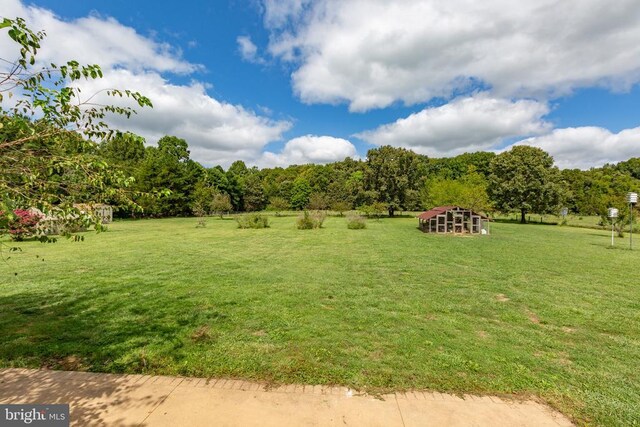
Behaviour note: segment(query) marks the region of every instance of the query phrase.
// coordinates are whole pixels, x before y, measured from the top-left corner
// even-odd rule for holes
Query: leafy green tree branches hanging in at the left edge
[[[69,60],[63,65],[37,60],[45,32],[32,31],[22,18],[3,18],[0,30],[19,48],[17,58],[0,58],[0,211],[11,219],[19,208],[79,215],[73,204],[117,200],[135,205],[132,179],[110,168],[98,144],[119,136],[109,115],[127,118],[131,107],[96,102],[97,95],[129,98],[152,107],[144,95],[104,89],[83,98],[82,80],[103,77],[99,65]],[[100,228],[96,219],[95,227]],[[0,236],[4,233],[0,229]]]

